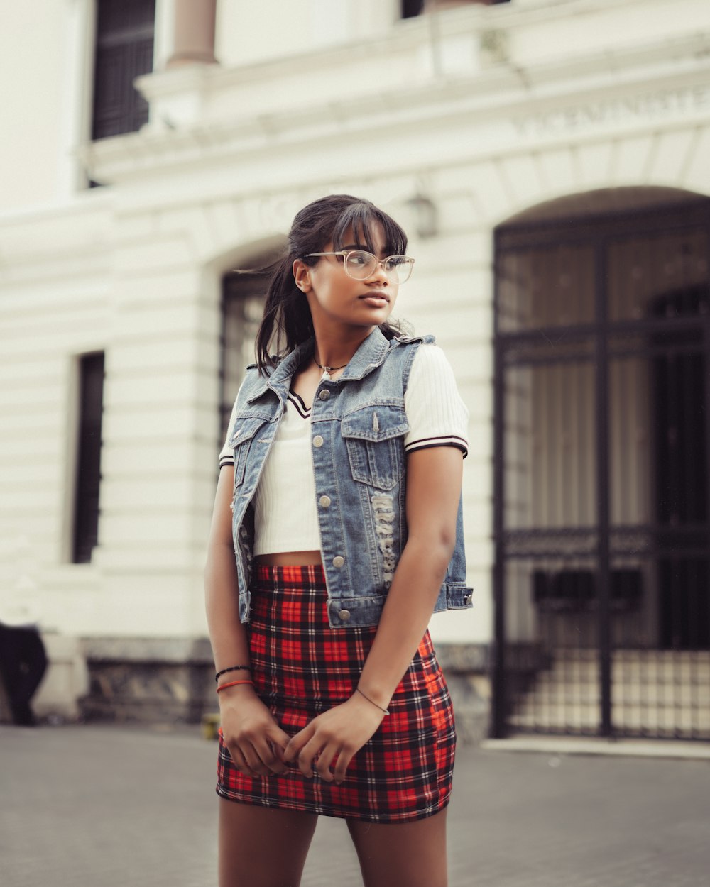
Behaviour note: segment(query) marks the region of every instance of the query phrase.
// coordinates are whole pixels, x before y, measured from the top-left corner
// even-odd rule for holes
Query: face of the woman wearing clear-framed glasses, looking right
[[[377,258],[386,258],[384,232],[379,225],[371,237]],[[328,242],[319,252],[331,252],[333,248],[332,242]],[[347,249],[369,252],[367,244],[359,243],[351,230],[343,244],[343,250]],[[378,326],[390,317],[397,299],[398,285],[390,281],[382,265],[377,265],[367,279],[355,280],[345,273],[343,257],[339,255],[320,256],[312,267],[296,260],[294,277],[308,299],[316,330],[323,325]]]

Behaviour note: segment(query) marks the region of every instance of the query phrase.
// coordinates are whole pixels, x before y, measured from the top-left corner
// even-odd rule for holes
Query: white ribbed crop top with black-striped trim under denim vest
[[[454,371],[438,345],[417,350],[405,392],[405,451],[455,446],[468,452],[469,413],[456,389]],[[219,467],[234,464],[229,420]],[[311,449],[311,410],[290,392],[272,449],[254,495],[254,554],[318,551],[320,532]]]

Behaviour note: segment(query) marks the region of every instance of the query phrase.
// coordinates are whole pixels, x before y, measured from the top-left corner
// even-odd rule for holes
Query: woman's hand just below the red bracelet
[[[219,694],[222,738],[234,766],[246,776],[286,773],[288,733],[251,687],[228,687]]]

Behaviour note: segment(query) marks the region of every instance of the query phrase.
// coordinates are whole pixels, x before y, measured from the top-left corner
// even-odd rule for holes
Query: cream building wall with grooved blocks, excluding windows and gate
[[[70,52],[88,27],[87,4],[34,0],[4,31],[14,66],[34,73],[21,104],[3,98],[18,125],[0,149],[0,581],[20,581],[17,552],[31,546],[44,621],[61,632],[204,634],[221,277],[288,230],[305,202],[345,191],[375,200],[412,233],[416,268],[398,313],[437,335],[469,406],[464,502],[475,607],[435,617],[432,631],[486,644],[493,229],[600,188],[710,192],[703,0],[517,0],[404,22],[387,4],[358,4],[357,27],[371,37],[350,43],[353,4],[335,16],[332,41],[305,27],[324,19],[324,5],[289,4],[293,21],[274,15],[279,27],[267,32],[256,13],[264,4],[219,4],[222,64],[143,78],[149,124],[95,145],[76,135],[86,96]],[[14,47],[28,33],[30,7],[43,26],[20,66]],[[168,0],[158,20],[156,59],[165,59]],[[301,37],[312,43],[304,48]],[[300,53],[288,54],[296,45]],[[62,167],[67,101],[72,162],[104,188],[82,190]],[[8,171],[28,167],[33,175]],[[437,210],[434,236],[416,232],[421,196]],[[75,358],[92,349],[106,349],[101,517],[94,558],[79,566],[67,562]]]

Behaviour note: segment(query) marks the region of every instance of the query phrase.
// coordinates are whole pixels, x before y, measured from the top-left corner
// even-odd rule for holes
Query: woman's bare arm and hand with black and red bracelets
[[[239,618],[232,541],[233,483],[233,467],[223,467],[219,472],[205,566],[205,606],[217,671],[249,664],[247,635]],[[250,671],[230,672],[223,680],[229,683],[241,679],[251,679]],[[273,719],[254,687],[249,684],[227,687],[218,694],[218,699],[222,735],[237,769],[248,776],[285,771],[281,750],[288,743],[288,734]]]

